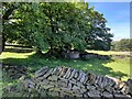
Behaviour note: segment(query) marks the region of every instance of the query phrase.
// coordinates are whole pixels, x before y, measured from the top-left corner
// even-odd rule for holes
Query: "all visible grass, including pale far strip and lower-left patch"
[[[54,68],[56,66],[67,66],[72,68],[81,69],[85,72],[91,72],[98,75],[109,75],[112,77],[121,77],[122,80],[127,80],[130,76],[130,57],[125,56],[123,58],[112,57],[109,61],[102,61],[97,58],[91,58],[88,61],[82,59],[58,59],[53,57],[43,57],[36,55],[32,51],[26,51],[23,48],[11,48],[8,47],[6,52],[0,55],[2,64],[15,65],[15,66],[26,66],[30,69],[30,74],[40,69],[43,66],[48,66]],[[24,52],[23,52],[24,51]],[[120,55],[118,52],[102,52],[102,51],[88,51],[89,53],[98,53],[103,55]],[[128,55],[128,54],[123,54]],[[0,76],[2,76],[2,70],[0,69]],[[4,73],[3,73],[4,77]],[[16,80],[11,80],[7,76],[1,81],[0,77],[0,97],[2,96],[2,88],[10,85],[18,85]],[[15,94],[14,94],[15,95]]]

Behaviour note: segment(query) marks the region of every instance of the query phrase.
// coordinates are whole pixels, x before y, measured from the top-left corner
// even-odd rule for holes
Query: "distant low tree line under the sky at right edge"
[[[113,51],[132,51],[132,38],[122,38],[112,42]]]

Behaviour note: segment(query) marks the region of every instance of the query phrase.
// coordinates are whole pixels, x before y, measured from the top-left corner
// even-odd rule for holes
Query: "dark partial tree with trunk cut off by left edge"
[[[7,40],[12,40],[15,34],[13,35],[13,32],[9,31],[12,29],[12,24],[10,22],[11,15],[13,11],[18,8],[19,6],[16,3],[10,3],[10,2],[3,2],[2,3],[2,51],[4,50],[4,45]],[[13,35],[13,36],[12,36]]]

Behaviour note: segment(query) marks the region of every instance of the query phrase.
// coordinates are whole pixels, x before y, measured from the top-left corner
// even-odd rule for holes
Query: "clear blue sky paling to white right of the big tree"
[[[87,1],[86,1],[87,2]],[[130,38],[130,3],[129,2],[89,2],[90,7],[103,13],[107,26],[113,33],[113,41]]]

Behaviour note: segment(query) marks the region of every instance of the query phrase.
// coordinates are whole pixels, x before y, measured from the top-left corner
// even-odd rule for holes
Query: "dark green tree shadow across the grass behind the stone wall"
[[[40,69],[43,66],[48,66],[50,68],[54,68],[56,66],[66,66],[72,68],[81,69],[85,72],[92,72],[99,75],[110,75],[110,76],[118,76],[124,77],[128,76],[121,72],[112,72],[111,67],[106,67],[103,64],[110,63],[112,59],[109,61],[101,61],[101,59],[89,59],[89,61],[81,61],[81,59],[57,59],[52,57],[40,57],[35,54],[30,55],[28,58],[4,58],[2,61],[3,64],[8,65],[16,65],[19,66],[28,66],[31,73]]]

